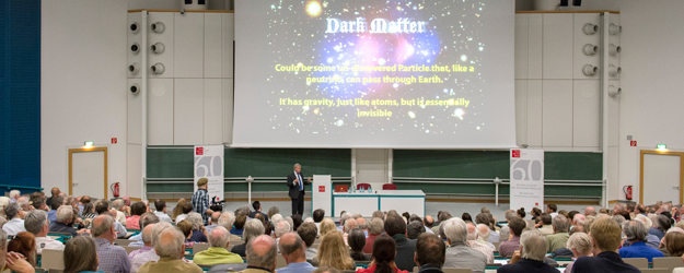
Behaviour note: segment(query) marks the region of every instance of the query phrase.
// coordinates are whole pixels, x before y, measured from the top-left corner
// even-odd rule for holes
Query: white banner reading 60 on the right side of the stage
[[[544,211],[544,150],[511,149],[511,210]]]

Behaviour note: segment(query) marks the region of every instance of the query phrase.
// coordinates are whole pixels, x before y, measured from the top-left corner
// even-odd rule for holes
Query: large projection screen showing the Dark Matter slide
[[[515,144],[514,1],[237,0],[233,146]]]

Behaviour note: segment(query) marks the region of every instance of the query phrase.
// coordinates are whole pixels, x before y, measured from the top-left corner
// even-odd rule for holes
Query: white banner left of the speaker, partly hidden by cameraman
[[[194,170],[195,191],[197,180],[206,177],[210,201],[223,200],[223,145],[195,146]]]

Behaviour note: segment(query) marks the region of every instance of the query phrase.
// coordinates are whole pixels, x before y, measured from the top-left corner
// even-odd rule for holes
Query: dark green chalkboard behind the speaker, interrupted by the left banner
[[[148,178],[193,178],[193,146],[150,146]],[[349,149],[225,149],[225,177],[286,177],[294,163],[302,173],[349,177]]]

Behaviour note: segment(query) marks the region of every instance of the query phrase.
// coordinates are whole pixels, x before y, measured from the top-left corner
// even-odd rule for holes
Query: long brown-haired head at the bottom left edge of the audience
[[[90,236],[77,236],[65,244],[65,273],[97,271],[97,247]]]

